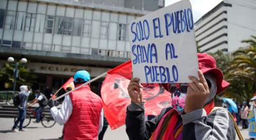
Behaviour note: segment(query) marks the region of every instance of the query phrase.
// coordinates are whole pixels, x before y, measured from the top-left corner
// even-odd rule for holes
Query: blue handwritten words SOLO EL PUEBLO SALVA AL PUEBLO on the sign
[[[148,22],[152,22],[153,27],[149,27]],[[166,43],[165,52],[157,52],[157,46],[154,43],[148,43],[148,45],[140,45],[140,41],[145,41],[153,36],[153,38],[163,38],[163,36],[169,36],[170,34],[182,34],[182,32],[190,32],[193,30],[193,15],[190,8],[175,11],[173,13],[164,14],[164,27],[161,27],[159,17],[154,18],[151,21],[143,20],[138,22],[132,22],[132,42],[136,45],[132,45],[132,55],[135,58],[132,60],[132,64],[152,62],[157,63],[157,55],[164,54],[166,60],[178,59],[178,55],[175,53],[175,48],[178,46],[173,45],[172,42]],[[150,29],[154,29],[154,34],[150,34]],[[166,34],[163,34],[162,29],[165,29]],[[152,38],[152,37],[151,37]],[[171,39],[170,39],[171,40]],[[145,66],[145,77],[147,83],[161,81],[161,83],[173,83],[179,80],[178,67],[173,65],[172,69],[164,66]]]

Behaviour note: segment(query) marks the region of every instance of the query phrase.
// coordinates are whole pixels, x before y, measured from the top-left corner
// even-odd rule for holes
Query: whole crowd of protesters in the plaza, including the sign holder
[[[172,107],[164,108],[158,116],[148,120],[144,114],[140,79],[132,78],[127,87],[131,104],[127,107],[125,122],[129,139],[235,139],[236,123],[242,122],[243,129],[248,129],[248,114],[256,105],[253,104],[250,109],[246,102],[243,102],[243,105],[237,108],[238,113],[232,114],[236,118],[234,122],[228,116],[228,108],[214,108],[214,97],[229,86],[223,79],[221,70],[216,67],[215,59],[206,53],[198,53],[198,66],[198,78],[189,76],[191,83],[163,84],[172,96]],[[74,85],[75,88],[81,88],[66,95],[60,109],[56,108],[50,99],[52,93],[49,88],[45,88],[44,94],[35,90],[36,97],[29,104],[39,104],[36,108],[35,123],[40,121],[45,106],[49,106],[52,118],[64,125],[63,136],[60,138],[103,139],[108,122],[103,115],[100,96],[92,92],[90,85],[84,85],[89,80],[90,74],[87,71],[77,71],[74,74]],[[67,92],[70,90],[72,89],[66,89]],[[12,132],[26,131],[22,123],[30,93],[26,85],[20,86],[19,117],[12,127]]]

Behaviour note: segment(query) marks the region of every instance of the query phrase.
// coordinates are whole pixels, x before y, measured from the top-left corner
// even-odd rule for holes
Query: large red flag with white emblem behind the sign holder
[[[124,68],[124,69],[123,69]],[[131,104],[127,87],[131,78],[131,60],[111,69],[101,87],[104,114],[111,129],[125,124],[126,108]],[[142,84],[145,115],[159,115],[161,109],[170,106],[171,95],[158,84]]]

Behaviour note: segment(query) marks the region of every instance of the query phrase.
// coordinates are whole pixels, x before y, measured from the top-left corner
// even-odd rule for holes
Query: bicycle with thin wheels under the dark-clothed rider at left
[[[28,107],[28,111],[26,113],[26,118],[25,118],[24,123],[23,123],[24,128],[28,127],[28,125],[31,123],[31,116],[29,115],[28,112],[31,112],[32,116],[36,116],[36,111],[33,111],[33,110],[31,110],[31,107]],[[14,118],[14,122],[17,120],[18,116],[19,115],[17,115]],[[56,123],[55,120],[51,116],[47,117],[43,113],[41,113],[40,122],[42,123],[42,125],[44,127],[47,127],[47,128],[53,127]]]

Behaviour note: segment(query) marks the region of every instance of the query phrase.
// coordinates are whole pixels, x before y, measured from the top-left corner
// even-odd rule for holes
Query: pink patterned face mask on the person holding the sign
[[[187,97],[188,84],[181,83],[179,85],[170,84],[169,92],[172,93],[172,106],[179,114],[184,111],[185,101]]]

